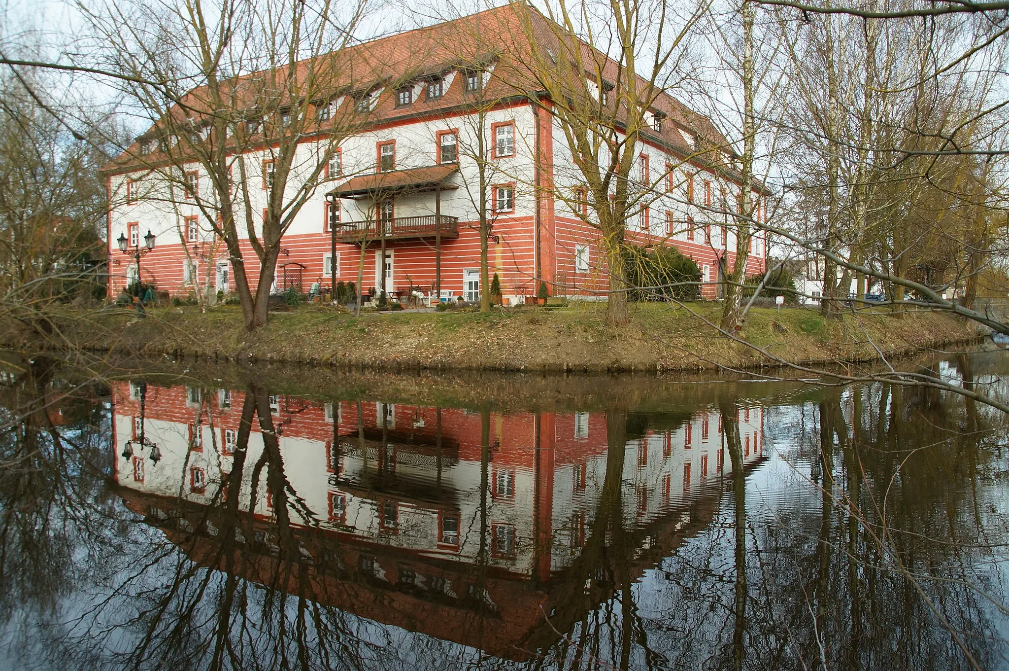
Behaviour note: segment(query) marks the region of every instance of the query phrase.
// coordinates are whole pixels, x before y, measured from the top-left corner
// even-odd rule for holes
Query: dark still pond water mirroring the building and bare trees
[[[961,395],[96,369],[3,374],[0,668],[1009,668],[1009,433]]]

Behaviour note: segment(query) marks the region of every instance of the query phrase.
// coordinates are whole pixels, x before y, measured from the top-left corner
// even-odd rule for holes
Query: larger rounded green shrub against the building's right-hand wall
[[[648,249],[628,245],[624,249],[624,268],[632,301],[696,301],[700,293],[700,268],[673,246]]]

